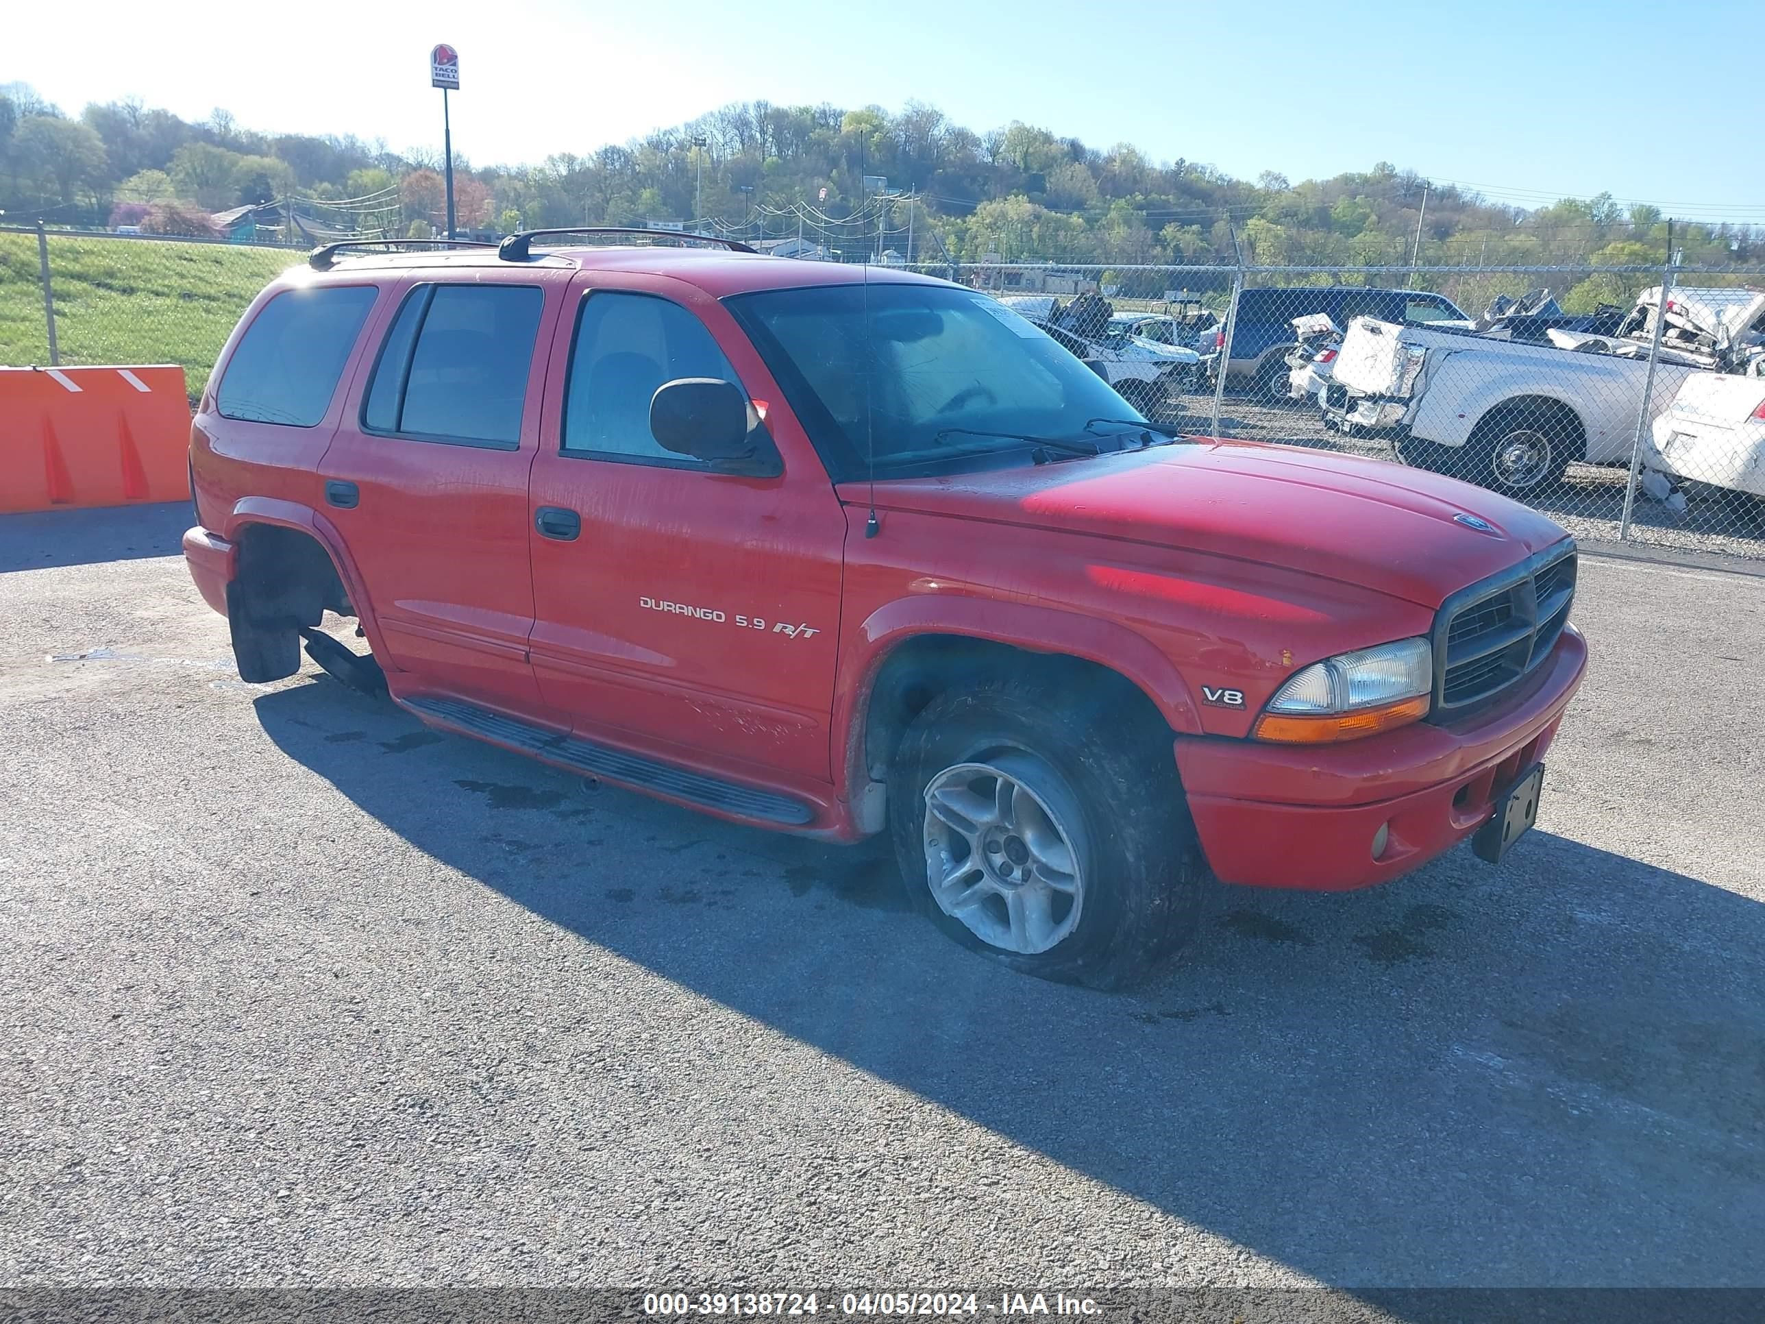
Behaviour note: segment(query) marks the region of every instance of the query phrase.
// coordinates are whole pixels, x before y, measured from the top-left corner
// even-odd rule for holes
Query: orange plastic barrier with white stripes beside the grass
[[[0,367],[0,514],[191,494],[182,367]]]

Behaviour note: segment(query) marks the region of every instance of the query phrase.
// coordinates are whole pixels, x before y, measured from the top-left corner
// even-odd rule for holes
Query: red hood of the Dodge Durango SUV
[[[870,500],[865,484],[844,484],[840,496]],[[1428,609],[1567,537],[1539,512],[1456,478],[1255,441],[893,478],[875,485],[875,505],[1281,565]]]

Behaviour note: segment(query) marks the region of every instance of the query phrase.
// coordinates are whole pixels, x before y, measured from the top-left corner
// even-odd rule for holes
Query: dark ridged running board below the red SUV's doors
[[[547,731],[542,726],[522,722],[519,717],[496,713],[464,699],[418,694],[402,703],[411,711],[457,731],[494,740],[499,745],[512,745],[584,777],[605,777],[609,782],[655,791],[671,800],[685,800],[690,805],[715,809],[722,814],[778,823],[787,828],[803,828],[815,821],[815,810],[792,796],[755,791],[736,782],[676,768],[671,763],[646,759],[642,754],[628,754],[581,736]]]

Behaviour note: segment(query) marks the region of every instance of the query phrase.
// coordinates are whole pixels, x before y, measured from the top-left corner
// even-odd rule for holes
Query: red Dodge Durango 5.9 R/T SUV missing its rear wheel
[[[1098,985],[1209,870],[1359,888],[1530,826],[1587,660],[1534,510],[1177,438],[943,281],[537,238],[319,251],[245,312],[184,538],[240,676],[304,637],[558,768],[888,831],[951,936]]]

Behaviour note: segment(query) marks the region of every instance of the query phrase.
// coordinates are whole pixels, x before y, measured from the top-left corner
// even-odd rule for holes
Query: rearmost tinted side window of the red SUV
[[[318,286],[284,290],[265,304],[215,390],[221,417],[314,427],[378,295],[371,284]]]

